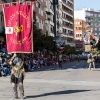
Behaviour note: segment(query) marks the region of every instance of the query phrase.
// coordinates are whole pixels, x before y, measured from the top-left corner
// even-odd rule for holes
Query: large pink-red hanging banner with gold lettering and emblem
[[[3,7],[8,53],[33,52],[32,3]]]

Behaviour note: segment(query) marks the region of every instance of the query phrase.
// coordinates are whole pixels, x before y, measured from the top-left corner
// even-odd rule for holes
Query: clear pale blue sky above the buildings
[[[100,0],[74,0],[74,10],[82,10],[82,8],[100,10]]]

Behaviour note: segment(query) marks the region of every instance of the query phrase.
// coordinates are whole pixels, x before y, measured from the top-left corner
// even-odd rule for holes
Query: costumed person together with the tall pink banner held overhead
[[[17,85],[20,96],[24,96],[24,60],[22,53],[33,53],[33,4],[35,2],[16,2],[2,4],[8,54],[14,53],[10,62],[11,83],[14,98],[18,98]],[[27,48],[26,48],[27,47]]]

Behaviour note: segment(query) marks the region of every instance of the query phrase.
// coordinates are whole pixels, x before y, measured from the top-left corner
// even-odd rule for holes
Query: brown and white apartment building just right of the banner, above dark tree
[[[35,0],[27,0],[35,1]],[[33,7],[33,17],[36,19],[37,28],[42,30],[43,34],[54,37],[53,32],[53,0],[37,0]]]

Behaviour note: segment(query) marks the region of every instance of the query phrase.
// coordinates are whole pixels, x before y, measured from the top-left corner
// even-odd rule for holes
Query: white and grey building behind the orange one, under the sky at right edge
[[[91,27],[91,32],[100,37],[100,11],[94,11],[94,9],[83,8],[82,10],[74,11],[74,18],[82,19],[86,21]]]

